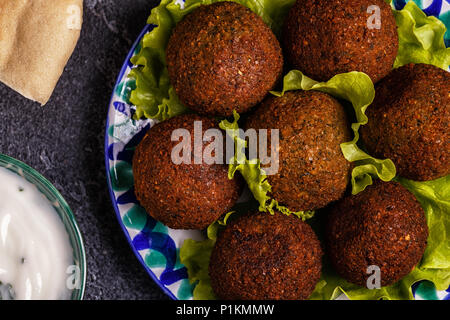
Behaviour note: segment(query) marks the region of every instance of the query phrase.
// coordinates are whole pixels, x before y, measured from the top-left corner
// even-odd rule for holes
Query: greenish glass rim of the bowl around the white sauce
[[[6,165],[4,165],[4,164],[6,164]],[[24,163],[20,160],[14,159],[10,156],[0,153],[0,167],[8,169],[9,168],[8,165],[19,168],[20,170],[22,170],[22,172],[25,176],[29,175],[29,176],[35,178],[36,181],[38,181],[38,183],[40,183],[40,186],[43,189],[45,189],[46,191],[48,191],[50,194],[55,196],[56,200],[58,201],[58,203],[61,207],[61,212],[67,218],[68,224],[66,224],[66,223],[64,223],[64,221],[62,221],[62,218],[59,216],[59,214],[58,214],[58,217],[63,222],[64,227],[66,229],[67,228],[72,229],[72,231],[75,235],[74,240],[79,248],[79,250],[77,250],[77,251],[81,258],[79,261],[80,274],[81,274],[80,289],[78,290],[79,293],[75,297],[72,297],[71,300],[83,300],[84,293],[86,290],[86,275],[87,275],[86,250],[84,248],[84,241],[83,241],[83,237],[81,235],[80,229],[78,227],[78,223],[75,219],[75,216],[74,216],[72,210],[70,209],[69,204],[64,199],[64,197],[61,195],[61,193],[56,189],[56,187],[49,180],[47,180],[42,174],[40,174],[38,171],[36,171],[35,169],[33,169],[32,167],[30,167],[29,165],[27,165],[26,163]],[[20,175],[17,172],[14,172],[14,173]],[[70,237],[70,234],[69,234],[69,232],[67,232],[67,230],[66,230],[66,233]],[[73,246],[72,246],[72,249],[74,251],[76,250],[76,248],[73,248]]]

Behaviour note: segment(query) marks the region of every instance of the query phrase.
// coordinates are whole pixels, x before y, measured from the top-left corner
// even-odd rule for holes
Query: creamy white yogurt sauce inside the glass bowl
[[[34,185],[0,168],[0,298],[11,292],[18,300],[69,299],[72,264],[56,210]]]

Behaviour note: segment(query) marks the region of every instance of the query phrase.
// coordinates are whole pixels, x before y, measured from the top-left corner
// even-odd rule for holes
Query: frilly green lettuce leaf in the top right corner
[[[394,68],[408,63],[432,64],[447,70],[450,48],[445,47],[444,23],[427,15],[409,1],[402,10],[393,10],[398,26],[399,50]]]

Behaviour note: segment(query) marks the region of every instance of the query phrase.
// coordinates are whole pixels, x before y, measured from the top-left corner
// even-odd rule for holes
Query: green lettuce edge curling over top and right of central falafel
[[[365,115],[367,107],[375,98],[375,89],[369,76],[362,72],[349,72],[338,74],[327,82],[314,81],[298,70],[289,72],[283,79],[283,91],[272,92],[276,96],[282,96],[291,90],[317,90],[328,93],[335,98],[351,102],[356,122],[352,124],[354,138],[352,141],[341,144],[344,157],[354,163],[352,170],[352,193],[357,194],[372,184],[372,176],[390,181],[396,175],[394,163],[389,160],[376,159],[363,150],[357,143],[359,140],[359,128],[367,124]]]

